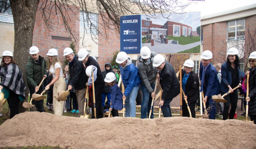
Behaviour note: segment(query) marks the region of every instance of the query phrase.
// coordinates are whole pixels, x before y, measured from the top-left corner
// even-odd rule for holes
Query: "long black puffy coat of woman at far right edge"
[[[249,101],[249,114],[250,115],[256,115],[256,67],[250,69],[250,75],[249,75],[249,95],[250,101]]]

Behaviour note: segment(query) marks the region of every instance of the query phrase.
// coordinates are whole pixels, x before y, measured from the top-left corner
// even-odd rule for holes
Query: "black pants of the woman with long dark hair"
[[[225,93],[221,92],[221,96],[224,95],[224,94]],[[224,99],[227,102],[224,103],[223,120],[228,119],[229,103],[231,104],[231,109],[230,109],[230,112],[229,112],[229,119],[233,119],[234,115],[235,115],[235,112],[236,112],[237,100],[238,100],[237,89],[234,90],[233,93],[229,93],[227,96],[225,96]]]

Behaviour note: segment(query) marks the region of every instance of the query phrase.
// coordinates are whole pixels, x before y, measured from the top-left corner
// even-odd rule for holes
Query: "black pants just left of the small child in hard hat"
[[[103,117],[103,109],[102,109],[101,94],[102,94],[102,90],[104,88],[104,84],[101,84],[101,85],[94,84],[94,88],[95,88],[94,92],[95,92],[96,116],[97,116],[97,118],[102,118]],[[95,118],[93,108],[94,108],[94,106],[93,106],[93,99],[92,99],[92,118]]]

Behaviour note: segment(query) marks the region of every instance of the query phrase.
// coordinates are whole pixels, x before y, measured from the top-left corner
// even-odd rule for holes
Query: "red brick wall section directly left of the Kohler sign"
[[[113,27],[114,29],[114,27]],[[115,51],[120,51],[120,34],[116,30],[104,28],[103,20],[99,15],[99,53],[98,63],[104,71],[105,63],[110,63]]]

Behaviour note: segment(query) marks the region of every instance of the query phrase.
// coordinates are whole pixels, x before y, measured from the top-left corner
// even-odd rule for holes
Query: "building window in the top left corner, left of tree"
[[[0,22],[13,23],[9,0],[0,0]]]

